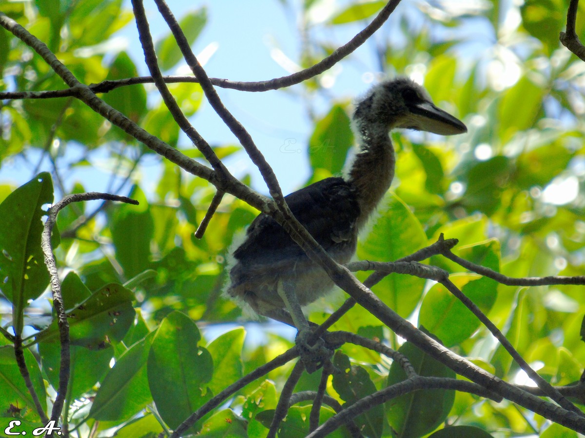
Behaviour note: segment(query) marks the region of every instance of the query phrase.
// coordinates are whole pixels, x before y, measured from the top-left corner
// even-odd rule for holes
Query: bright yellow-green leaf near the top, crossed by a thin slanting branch
[[[205,23],[207,23],[207,8],[189,12],[179,20],[179,25],[185,33],[190,46],[203,30]],[[181,54],[181,50],[177,46],[177,41],[172,33],[168,33],[164,39],[157,41],[154,47],[159,58],[160,69],[163,71],[170,69],[183,58],[183,54]]]

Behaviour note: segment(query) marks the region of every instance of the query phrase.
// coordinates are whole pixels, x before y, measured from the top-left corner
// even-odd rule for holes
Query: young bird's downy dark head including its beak
[[[397,78],[374,86],[356,107],[358,126],[384,124],[388,129],[408,128],[441,135],[462,134],[462,121],[435,106],[422,86]]]

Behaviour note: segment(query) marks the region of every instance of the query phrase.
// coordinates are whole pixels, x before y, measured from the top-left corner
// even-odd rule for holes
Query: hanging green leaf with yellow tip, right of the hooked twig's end
[[[150,241],[154,235],[152,214],[144,193],[135,187],[130,197],[140,205],[116,205],[110,225],[116,259],[128,279],[150,267]]]

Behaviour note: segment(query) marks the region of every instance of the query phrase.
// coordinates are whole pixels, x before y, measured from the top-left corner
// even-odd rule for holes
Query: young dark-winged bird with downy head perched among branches
[[[374,85],[356,105],[352,130],[357,153],[345,175],[284,197],[292,214],[338,263],[352,259],[359,231],[390,188],[394,128],[441,135],[467,131],[462,121],[435,106],[422,86],[405,77],[388,79]],[[311,334],[301,307],[334,286],[325,270],[264,213],[250,224],[242,242],[232,244],[228,270],[226,295],[256,314],[295,326],[297,340],[301,331],[305,341]]]

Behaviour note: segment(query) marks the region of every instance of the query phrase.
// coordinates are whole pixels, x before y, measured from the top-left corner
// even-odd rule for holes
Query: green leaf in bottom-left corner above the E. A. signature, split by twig
[[[23,353],[33,388],[35,388],[35,392],[39,396],[43,411],[47,412],[47,398],[44,397],[45,389],[39,365],[35,356],[29,350],[25,349]],[[23,409],[21,413],[26,414],[24,416],[26,420],[36,422],[40,419],[30,392],[26,388],[25,380],[20,374],[18,364],[16,364],[14,347],[11,345],[0,346],[0,394],[2,394],[0,399],[2,415],[5,415],[12,405]],[[4,430],[4,427],[1,430]]]

